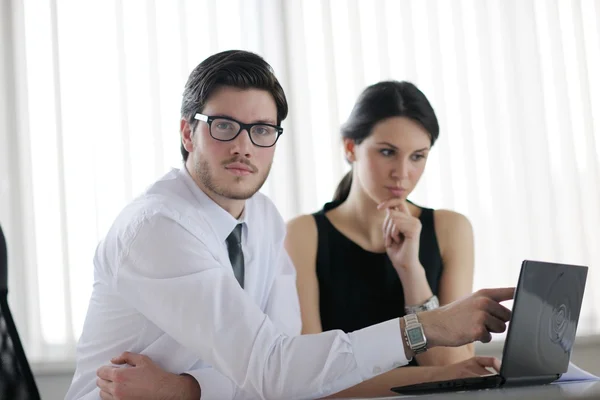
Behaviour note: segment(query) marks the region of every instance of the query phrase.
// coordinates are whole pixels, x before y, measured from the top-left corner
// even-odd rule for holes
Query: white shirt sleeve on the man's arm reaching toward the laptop
[[[284,333],[207,244],[170,218],[147,219],[116,245],[123,299],[253,397],[322,397],[407,363],[398,319],[350,334]]]

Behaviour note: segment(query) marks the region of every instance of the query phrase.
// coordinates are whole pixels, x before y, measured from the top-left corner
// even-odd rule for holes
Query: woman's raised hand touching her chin
[[[406,200],[393,198],[377,208],[386,210],[382,227],[385,249],[398,274],[422,268],[419,261],[421,221],[410,214]]]

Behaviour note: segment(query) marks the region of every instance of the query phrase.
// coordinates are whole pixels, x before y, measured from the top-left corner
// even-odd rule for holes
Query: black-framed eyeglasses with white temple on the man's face
[[[198,121],[204,121],[208,124],[210,136],[221,142],[229,142],[245,129],[250,136],[250,141],[258,147],[272,147],[277,143],[277,139],[283,133],[283,128],[270,124],[243,124],[233,118],[228,117],[210,117],[204,114],[194,116]]]

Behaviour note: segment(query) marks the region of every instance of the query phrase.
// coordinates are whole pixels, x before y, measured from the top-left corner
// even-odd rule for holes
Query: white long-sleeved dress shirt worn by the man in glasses
[[[192,375],[202,399],[322,397],[407,363],[398,319],[350,334],[299,335],[281,216],[257,193],[241,222],[243,289],[225,241],[240,221],[185,168],[121,212],[96,250],[67,399],[99,399],[96,370],[123,351]]]

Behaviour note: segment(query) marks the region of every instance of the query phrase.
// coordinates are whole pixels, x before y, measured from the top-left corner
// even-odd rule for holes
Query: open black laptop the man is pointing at
[[[525,260],[499,374],[394,387],[401,394],[551,383],[567,371],[588,267]]]

